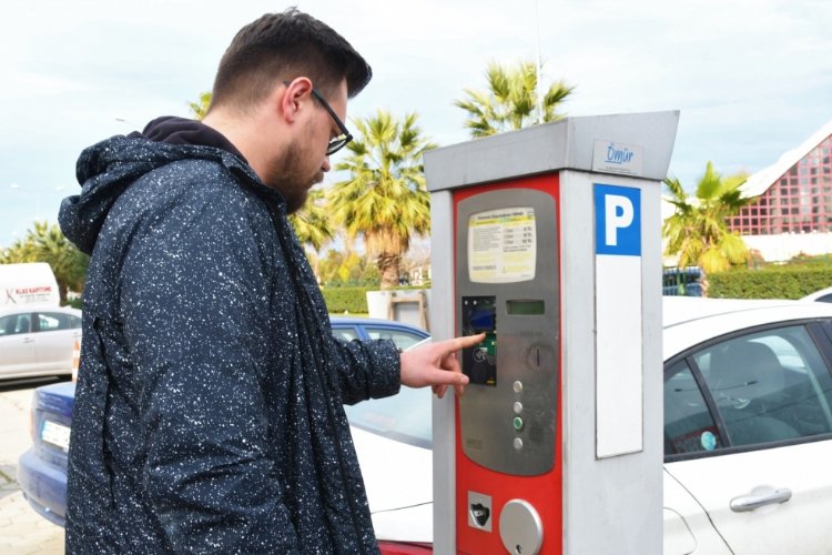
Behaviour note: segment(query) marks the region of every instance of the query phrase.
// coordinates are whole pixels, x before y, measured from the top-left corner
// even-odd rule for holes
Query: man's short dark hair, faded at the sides
[[[369,82],[373,70],[326,23],[290,8],[266,13],[237,32],[220,61],[211,104],[246,111],[278,81],[301,75],[324,93],[334,92],[346,79],[347,97],[353,98]]]

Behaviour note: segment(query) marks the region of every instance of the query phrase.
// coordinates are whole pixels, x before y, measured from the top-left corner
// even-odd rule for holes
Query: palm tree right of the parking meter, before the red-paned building
[[[728,229],[727,219],[735,215],[752,199],[743,198],[740,185],[745,175],[722,178],[708,162],[697,183],[696,196],[684,192],[678,179],[664,179],[676,213],[664,220],[664,254],[678,255],[680,268],[700,266],[706,274],[744,264],[750,251],[738,233]]]

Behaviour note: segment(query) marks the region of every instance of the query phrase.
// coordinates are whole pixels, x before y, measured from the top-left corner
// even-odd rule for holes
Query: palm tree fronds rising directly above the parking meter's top
[[[538,123],[537,69],[534,62],[503,67],[490,62],[486,69],[487,91],[465,89],[466,100],[454,104],[468,112],[465,127],[473,138],[488,137],[504,131],[522,129]],[[557,121],[564,115],[557,110],[575,87],[558,81],[549,85],[542,98],[542,121]]]

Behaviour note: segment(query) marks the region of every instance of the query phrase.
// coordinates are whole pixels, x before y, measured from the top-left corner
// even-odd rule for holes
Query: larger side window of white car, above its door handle
[[[804,326],[734,337],[693,360],[731,446],[832,432],[832,377]]]

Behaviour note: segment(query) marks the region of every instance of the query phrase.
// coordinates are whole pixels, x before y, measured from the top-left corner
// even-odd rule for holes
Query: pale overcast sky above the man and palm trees
[[[670,173],[690,185],[772,164],[832,120],[828,0],[298,0],[375,77],[348,117],[416,111],[440,145],[468,140],[463,89],[491,60],[534,60],[576,85],[569,115],[680,110]],[[291,3],[3,0],[0,245],[57,221],[81,150],[190,115],[243,24]],[[337,159],[336,154],[336,159]]]

